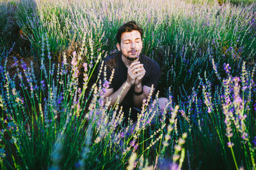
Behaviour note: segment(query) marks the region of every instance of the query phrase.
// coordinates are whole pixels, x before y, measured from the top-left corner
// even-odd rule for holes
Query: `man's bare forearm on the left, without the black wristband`
[[[113,94],[108,96],[108,100],[110,99],[110,105],[114,106],[116,101],[118,100],[118,97],[119,97],[119,101],[121,103],[130,88],[131,88],[131,85],[129,85],[129,83],[127,83],[127,81],[125,81],[123,83],[123,85],[118,90],[116,90],[116,92],[114,92]],[[105,98],[105,101],[106,100],[107,99]]]

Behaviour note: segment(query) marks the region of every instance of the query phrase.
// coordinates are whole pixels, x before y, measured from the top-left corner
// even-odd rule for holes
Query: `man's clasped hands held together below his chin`
[[[146,71],[140,61],[132,62],[127,71],[127,83],[139,85],[145,73]]]

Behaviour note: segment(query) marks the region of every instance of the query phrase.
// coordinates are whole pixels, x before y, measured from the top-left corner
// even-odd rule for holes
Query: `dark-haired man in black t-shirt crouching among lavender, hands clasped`
[[[104,60],[107,80],[115,69],[113,80],[104,98],[108,97],[111,101],[110,105],[114,106],[120,96],[120,106],[123,106],[125,118],[128,117],[131,108],[132,120],[136,120],[139,113],[136,108],[141,108],[143,99],[148,98],[152,85],[155,89],[160,76],[160,67],[157,62],[141,54],[142,36],[143,30],[136,22],[125,23],[116,34],[116,47],[119,52]],[[103,73],[100,80],[104,81]],[[163,106],[161,103],[159,105]]]

